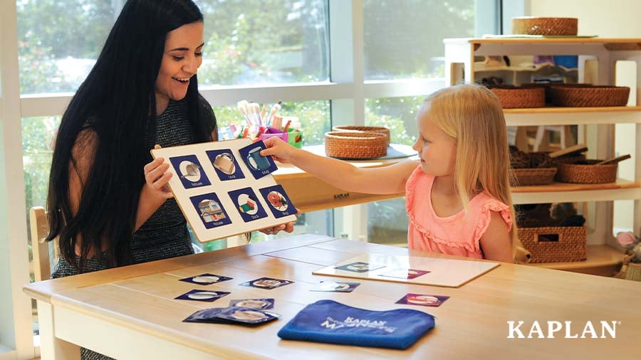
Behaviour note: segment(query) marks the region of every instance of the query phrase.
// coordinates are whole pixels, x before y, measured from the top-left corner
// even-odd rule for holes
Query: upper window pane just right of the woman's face
[[[204,14],[203,85],[328,80],[323,0],[198,1]]]

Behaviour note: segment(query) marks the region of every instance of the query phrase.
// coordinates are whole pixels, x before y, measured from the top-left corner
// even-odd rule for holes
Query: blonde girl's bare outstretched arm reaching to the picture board
[[[278,162],[293,164],[328,184],[347,191],[365,194],[398,194],[405,191],[405,182],[419,162],[405,161],[377,168],[358,168],[337,159],[296,149],[278,137],[265,139],[267,149],[261,155],[271,155]]]

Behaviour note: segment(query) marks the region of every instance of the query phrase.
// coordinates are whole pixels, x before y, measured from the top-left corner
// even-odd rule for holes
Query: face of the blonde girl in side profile
[[[421,159],[421,168],[434,176],[454,174],[457,161],[457,139],[439,129],[429,119],[429,103],[418,112],[419,137],[412,146]]]

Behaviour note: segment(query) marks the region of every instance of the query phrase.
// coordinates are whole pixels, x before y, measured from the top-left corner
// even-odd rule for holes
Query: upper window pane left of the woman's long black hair
[[[122,4],[101,0],[16,1],[21,94],[78,89],[98,58]]]

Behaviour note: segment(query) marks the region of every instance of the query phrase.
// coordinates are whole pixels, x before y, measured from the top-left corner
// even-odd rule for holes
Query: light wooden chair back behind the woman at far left
[[[31,253],[33,254],[33,277],[36,281],[51,278],[51,258],[58,258],[58,238],[53,240],[53,257],[49,253],[49,243],[43,242],[49,233],[47,213],[42,206],[29,209],[31,228]]]

